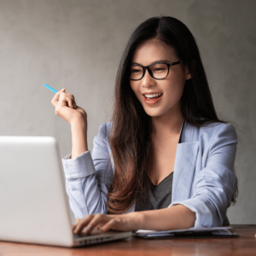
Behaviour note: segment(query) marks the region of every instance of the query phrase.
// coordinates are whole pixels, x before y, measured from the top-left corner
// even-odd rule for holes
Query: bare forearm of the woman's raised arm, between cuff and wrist
[[[88,150],[87,146],[87,120],[84,118],[77,119],[71,125],[72,134],[72,154],[71,158],[75,158]]]

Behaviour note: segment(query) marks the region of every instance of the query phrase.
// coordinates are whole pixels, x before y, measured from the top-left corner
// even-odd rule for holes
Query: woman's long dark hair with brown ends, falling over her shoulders
[[[196,127],[226,123],[216,114],[200,52],[188,27],[180,20],[166,16],[145,20],[131,34],[115,81],[113,125],[109,135],[115,168],[113,183],[108,187],[110,213],[127,211],[135,201],[143,199],[149,186],[151,117],[131,90],[129,75],[135,50],[152,39],[170,45],[189,67],[192,78],[186,80],[180,100],[185,121]]]

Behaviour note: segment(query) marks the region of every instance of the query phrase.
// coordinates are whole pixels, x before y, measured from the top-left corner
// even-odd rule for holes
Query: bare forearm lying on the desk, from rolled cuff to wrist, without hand
[[[135,230],[183,230],[195,225],[195,212],[183,205],[132,213]]]

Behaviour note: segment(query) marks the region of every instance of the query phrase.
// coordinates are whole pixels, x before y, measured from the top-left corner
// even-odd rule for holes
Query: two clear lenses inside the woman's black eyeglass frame
[[[166,64],[153,64],[149,66],[149,70],[151,71],[150,75],[154,77],[154,79],[165,79],[168,74],[168,65]],[[131,74],[130,79],[142,79],[143,78],[143,67],[138,65],[131,65]]]

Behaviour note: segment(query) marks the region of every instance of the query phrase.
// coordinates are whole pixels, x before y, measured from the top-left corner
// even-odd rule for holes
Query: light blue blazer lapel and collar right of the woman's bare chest
[[[185,122],[181,143],[177,144],[174,163],[172,202],[189,199],[195,172],[199,141],[195,138],[195,127]],[[197,139],[197,141],[194,141]]]

